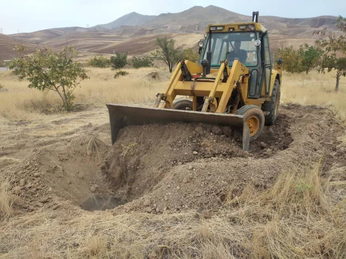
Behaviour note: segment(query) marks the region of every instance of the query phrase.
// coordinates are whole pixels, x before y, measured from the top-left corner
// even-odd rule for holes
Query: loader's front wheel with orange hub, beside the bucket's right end
[[[244,105],[236,112],[237,115],[243,115],[249,127],[250,141],[260,136],[264,127],[264,113],[256,105]]]

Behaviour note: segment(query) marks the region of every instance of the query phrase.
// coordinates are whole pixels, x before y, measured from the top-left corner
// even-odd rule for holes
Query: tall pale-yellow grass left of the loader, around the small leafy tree
[[[81,87],[75,90],[75,103],[148,102],[165,85],[147,77],[154,68],[127,69],[129,74],[119,78],[113,78],[114,71],[110,68],[86,69],[90,79],[82,81]],[[0,92],[0,120],[39,119],[44,112],[61,104],[56,92],[29,89],[27,81],[19,81],[10,71],[0,73],[0,83],[8,90]]]

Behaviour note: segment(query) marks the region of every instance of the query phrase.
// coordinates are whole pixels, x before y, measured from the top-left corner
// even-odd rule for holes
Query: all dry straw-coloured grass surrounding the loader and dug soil
[[[74,185],[77,178],[69,182],[68,188],[75,188],[67,190],[70,198],[57,196],[58,188],[43,197],[14,195],[11,185],[19,181],[19,175],[30,175],[30,168],[36,168],[32,172],[41,175],[48,173],[40,173],[38,168],[47,172],[55,168],[54,172],[66,174],[58,164],[66,163],[61,156],[70,153],[69,145],[74,141],[87,139],[78,157],[81,161],[89,150],[92,153],[98,148],[101,154],[100,143],[110,141],[104,103],[148,105],[169,78],[163,68],[128,69],[128,75],[116,79],[110,69],[87,69],[90,80],[83,81],[75,91],[77,109],[71,113],[61,111],[55,93],[28,89],[27,82],[18,81],[10,72],[0,73],[0,84],[7,90],[0,92],[0,258],[346,257],[346,80],[340,80],[339,92],[335,93],[332,74],[316,71],[283,74],[282,118],[295,116],[290,122],[294,141],[292,149],[278,151],[277,159],[284,161],[287,157],[289,161],[292,156],[292,161],[280,169],[267,188],[249,183],[240,195],[232,195],[230,188],[226,201],[210,215],[193,209],[159,214],[83,211],[73,203],[72,194],[78,196],[83,188],[88,189],[95,172],[85,174],[86,187]],[[158,79],[148,76],[153,70],[158,71]],[[299,108],[304,113],[294,114],[292,103],[329,110],[312,107],[314,113],[310,114],[308,108]],[[311,122],[307,126],[301,123],[309,132],[293,126],[297,120]],[[313,132],[317,127],[321,130]],[[331,137],[329,133],[335,129],[336,136]],[[94,131],[100,131],[98,138],[92,137]],[[310,156],[314,151],[309,145],[315,142],[306,139],[312,133],[322,144],[320,152]],[[57,152],[59,159],[53,159],[47,169],[43,167],[44,159],[52,152]],[[295,160],[298,153],[297,157],[306,157]],[[97,168],[100,160],[81,168]],[[275,158],[260,158],[258,163],[266,160],[275,163]],[[198,168],[198,163],[192,165]],[[210,163],[214,163],[215,171],[222,168],[217,162]],[[63,184],[63,178],[56,179]],[[55,203],[48,207],[43,198]],[[35,210],[27,209],[39,199]]]

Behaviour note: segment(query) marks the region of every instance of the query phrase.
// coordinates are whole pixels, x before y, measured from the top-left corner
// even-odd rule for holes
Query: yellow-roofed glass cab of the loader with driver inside
[[[204,39],[198,43],[199,64],[202,65],[202,61],[207,59],[208,52],[211,52],[211,69],[219,68],[222,60],[227,60],[229,67],[233,65],[234,60],[239,60],[249,69],[247,98],[260,98],[262,87],[263,96],[270,95],[273,83],[271,81],[277,79],[280,83],[281,71],[278,76],[272,78],[269,33],[258,24],[258,12],[253,12],[252,22],[209,25],[207,31]]]

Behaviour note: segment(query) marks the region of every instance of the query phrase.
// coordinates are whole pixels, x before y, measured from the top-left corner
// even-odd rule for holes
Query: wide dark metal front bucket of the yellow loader
[[[119,130],[125,126],[182,121],[230,126],[243,133],[243,150],[249,150],[249,128],[242,115],[136,107],[113,103],[106,105],[109,111],[112,144],[116,141]]]

